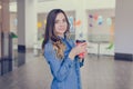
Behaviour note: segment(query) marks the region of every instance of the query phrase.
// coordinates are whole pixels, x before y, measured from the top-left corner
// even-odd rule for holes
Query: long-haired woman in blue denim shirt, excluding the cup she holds
[[[51,89],[81,89],[80,67],[83,61],[78,55],[86,52],[86,43],[75,46],[69,38],[70,24],[61,9],[53,9],[47,18],[44,58],[50,65],[53,80]]]

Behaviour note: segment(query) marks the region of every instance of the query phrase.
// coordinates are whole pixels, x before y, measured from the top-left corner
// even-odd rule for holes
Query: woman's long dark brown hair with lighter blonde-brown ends
[[[57,57],[62,59],[64,57],[63,52],[65,49],[65,46],[61,41],[61,39],[54,33],[54,23],[55,23],[55,18],[58,13],[63,13],[68,23],[66,31],[64,32],[64,37],[69,38],[70,34],[70,23],[66,18],[66,14],[63,10],[61,9],[53,9],[49,12],[47,17],[47,26],[45,26],[45,34],[44,34],[44,41],[42,48],[44,49],[44,44],[51,40],[53,44],[53,49],[57,51]]]

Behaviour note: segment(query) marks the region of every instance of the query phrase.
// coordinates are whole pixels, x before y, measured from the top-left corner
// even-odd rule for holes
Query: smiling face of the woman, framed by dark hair
[[[58,13],[54,22],[54,32],[55,34],[63,37],[64,32],[66,31],[66,19],[63,13]]]

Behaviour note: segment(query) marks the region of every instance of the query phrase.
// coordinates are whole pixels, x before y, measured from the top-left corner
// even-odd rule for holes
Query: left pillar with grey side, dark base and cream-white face
[[[18,0],[18,51],[37,42],[37,0]]]

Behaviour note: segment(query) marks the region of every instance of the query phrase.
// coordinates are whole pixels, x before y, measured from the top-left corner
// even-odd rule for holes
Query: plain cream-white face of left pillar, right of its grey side
[[[37,28],[37,0],[30,2],[25,0],[25,47],[32,48],[38,40],[38,28]],[[35,21],[35,22],[34,22]]]

